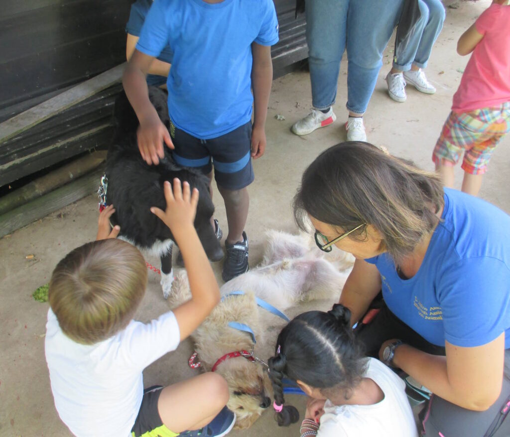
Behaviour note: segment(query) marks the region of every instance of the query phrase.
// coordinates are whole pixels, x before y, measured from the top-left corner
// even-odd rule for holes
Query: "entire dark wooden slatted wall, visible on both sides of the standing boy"
[[[0,0],[0,122],[125,61],[132,0]],[[275,76],[308,56],[296,0],[274,0]],[[108,146],[120,85],[0,143],[0,186]]]

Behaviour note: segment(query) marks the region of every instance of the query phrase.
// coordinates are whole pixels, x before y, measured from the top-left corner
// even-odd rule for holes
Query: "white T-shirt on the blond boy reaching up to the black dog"
[[[142,371],[179,346],[172,312],[148,324],[132,320],[107,340],[82,345],[60,329],[50,309],[45,353],[55,406],[78,437],[131,435],[142,403]]]

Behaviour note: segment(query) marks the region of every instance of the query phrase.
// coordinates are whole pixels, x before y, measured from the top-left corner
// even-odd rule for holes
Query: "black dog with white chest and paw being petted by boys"
[[[161,121],[170,128],[166,92],[149,87],[149,99]],[[161,285],[167,298],[173,280],[173,236],[149,208],[165,210],[165,181],[171,183],[177,177],[187,181],[192,189],[196,187],[200,196],[195,228],[209,259],[218,261],[223,257],[223,251],[210,221],[214,205],[209,192],[209,178],[194,169],[175,164],[166,145],[165,157],[158,165],[148,165],[142,160],[136,138],[139,122],[124,92],[115,101],[114,118],[116,130],[106,162],[107,203],[115,207],[111,222],[120,226],[120,238],[160,256]]]

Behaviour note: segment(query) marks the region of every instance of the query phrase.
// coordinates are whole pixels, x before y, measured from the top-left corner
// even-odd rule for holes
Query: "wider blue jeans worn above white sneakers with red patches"
[[[367,110],[382,66],[382,52],[397,25],[403,0],[307,0],[312,105],[327,109],[337,96],[347,48],[347,109]]]

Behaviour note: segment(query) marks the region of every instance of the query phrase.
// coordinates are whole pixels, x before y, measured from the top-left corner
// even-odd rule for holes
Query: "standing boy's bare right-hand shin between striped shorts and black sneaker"
[[[250,199],[246,187],[240,190],[227,190],[218,186],[218,190],[225,202],[228,235],[226,242],[234,244],[243,241],[243,230],[248,218]]]

